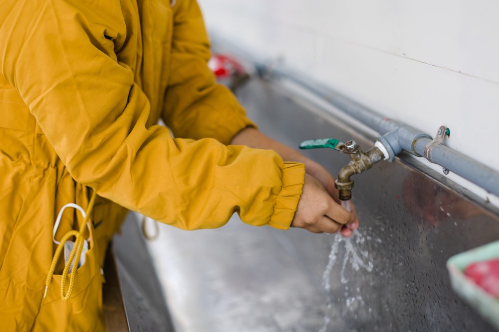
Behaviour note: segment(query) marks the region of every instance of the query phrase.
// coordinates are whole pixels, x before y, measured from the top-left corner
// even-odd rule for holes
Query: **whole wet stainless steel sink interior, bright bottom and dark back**
[[[258,80],[239,90],[268,135],[296,148],[325,137],[373,144],[280,91]],[[330,149],[303,153],[333,175],[349,161]],[[497,240],[498,215],[410,163],[402,156],[352,177],[361,223],[350,239],[251,227],[237,216],[212,230],[160,225],[147,245],[176,331],[493,331],[452,291],[445,263]]]

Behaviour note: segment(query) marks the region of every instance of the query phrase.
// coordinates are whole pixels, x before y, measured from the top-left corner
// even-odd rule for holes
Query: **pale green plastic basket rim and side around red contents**
[[[447,261],[447,269],[454,291],[499,330],[499,299],[492,297],[463,274],[468,265],[493,258],[499,258],[499,241],[452,256]]]

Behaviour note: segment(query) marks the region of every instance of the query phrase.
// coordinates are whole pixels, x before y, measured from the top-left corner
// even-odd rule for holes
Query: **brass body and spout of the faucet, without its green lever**
[[[367,171],[384,159],[383,152],[376,146],[363,152],[354,141],[348,141],[345,143],[345,147],[345,152],[348,153],[351,161],[339,171],[338,179],[334,183],[342,201],[348,201],[352,198],[353,180],[350,177]]]

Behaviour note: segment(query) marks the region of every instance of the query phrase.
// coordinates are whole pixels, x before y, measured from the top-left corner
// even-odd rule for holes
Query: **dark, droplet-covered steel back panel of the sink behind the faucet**
[[[262,131],[290,146],[321,137],[355,139],[364,149],[373,144],[352,137],[331,116],[307,112],[267,84],[252,82],[240,98]],[[305,153],[333,175],[348,162],[332,150]],[[402,159],[352,177],[361,224],[351,239],[279,233],[294,245],[295,259],[329,298],[325,331],[336,331],[336,326],[350,331],[492,331],[454,294],[445,263],[456,253],[497,240],[498,216]],[[327,263],[330,273],[325,273]]]

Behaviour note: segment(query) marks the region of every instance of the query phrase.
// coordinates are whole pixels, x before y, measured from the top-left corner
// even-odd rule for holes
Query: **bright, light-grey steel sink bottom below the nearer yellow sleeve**
[[[160,225],[148,243],[176,332],[317,331],[325,298],[269,227]]]

